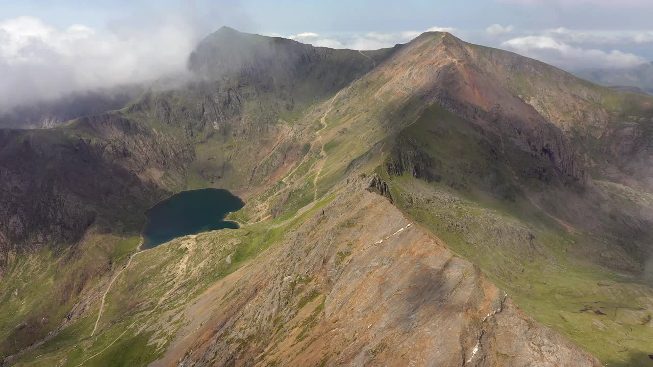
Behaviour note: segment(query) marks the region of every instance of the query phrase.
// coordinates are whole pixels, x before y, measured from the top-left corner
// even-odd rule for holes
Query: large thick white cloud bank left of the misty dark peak
[[[185,71],[196,39],[193,26],[176,18],[114,31],[33,17],[0,21],[0,109]]]

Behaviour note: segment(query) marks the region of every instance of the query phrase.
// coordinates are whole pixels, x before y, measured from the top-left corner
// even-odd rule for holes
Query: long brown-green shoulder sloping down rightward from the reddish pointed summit
[[[465,48],[489,78],[562,129],[592,176],[650,188],[650,139],[641,138],[653,121],[650,96],[598,86],[512,52]],[[616,141],[628,148],[614,150]]]

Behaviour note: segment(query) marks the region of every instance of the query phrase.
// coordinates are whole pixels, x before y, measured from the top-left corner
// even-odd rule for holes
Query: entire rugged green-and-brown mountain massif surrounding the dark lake
[[[652,98],[440,32],[223,27],[189,71],[0,130],[4,365],[650,364]],[[240,229],[136,251],[202,187]]]

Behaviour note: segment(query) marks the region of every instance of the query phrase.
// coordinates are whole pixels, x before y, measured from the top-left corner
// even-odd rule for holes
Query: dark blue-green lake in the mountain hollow
[[[224,189],[182,191],[172,195],[145,212],[147,221],[141,248],[150,249],[187,234],[238,228],[238,223],[223,219],[244,204]]]

